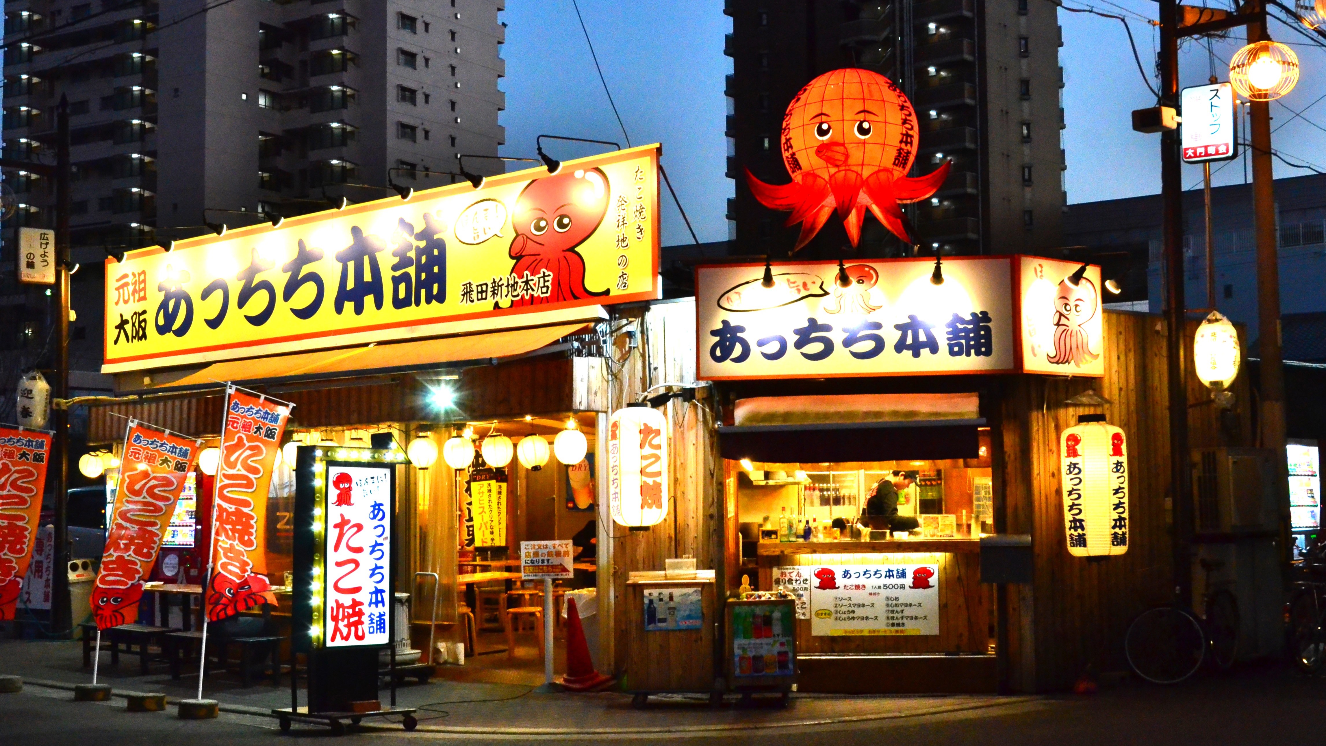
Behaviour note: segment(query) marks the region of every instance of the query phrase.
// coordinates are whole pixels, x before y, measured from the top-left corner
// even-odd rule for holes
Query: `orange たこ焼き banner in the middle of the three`
[[[156,561],[175,502],[198,462],[202,445],[202,441],[129,421],[106,551],[91,589],[97,629],[138,620],[143,577]]]

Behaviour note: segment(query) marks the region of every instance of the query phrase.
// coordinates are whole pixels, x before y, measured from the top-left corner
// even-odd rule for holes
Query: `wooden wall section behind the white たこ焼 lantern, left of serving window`
[[[695,304],[691,299],[654,304],[647,311],[623,311],[613,325],[617,331],[613,340],[617,360],[607,365],[607,411],[636,401],[651,386],[695,382]],[[635,349],[629,346],[625,336],[627,332],[635,332]],[[659,392],[655,390],[654,394],[656,393]],[[599,613],[603,613],[606,601],[611,611],[605,619],[614,620],[613,649],[605,652],[611,653],[615,672],[626,673],[627,680],[627,624],[638,615],[633,615],[633,609],[625,608],[625,604],[618,607],[617,601],[627,599],[626,581],[631,572],[659,571],[663,569],[664,559],[691,555],[696,567],[717,569],[716,588],[720,592],[725,587],[721,459],[713,437],[713,402],[709,398],[693,402],[672,400],[664,411],[670,423],[671,449],[668,474],[672,507],[668,518],[648,531],[627,531],[611,522],[606,504],[601,504],[599,512],[603,518],[599,524],[601,536],[603,531],[610,531],[607,540],[599,542],[601,547],[609,546],[607,556],[599,551]],[[606,503],[606,499],[602,502]]]

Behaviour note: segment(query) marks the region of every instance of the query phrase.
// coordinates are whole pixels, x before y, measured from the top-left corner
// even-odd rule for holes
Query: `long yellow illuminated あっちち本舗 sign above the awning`
[[[528,325],[659,297],[648,145],[106,260],[103,373]],[[426,183],[426,182],[424,182]]]

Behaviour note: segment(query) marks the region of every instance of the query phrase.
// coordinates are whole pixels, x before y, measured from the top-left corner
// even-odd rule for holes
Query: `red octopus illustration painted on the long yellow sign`
[[[607,295],[585,287],[585,258],[575,247],[594,234],[609,204],[607,177],[598,169],[564,171],[529,182],[516,198],[508,255],[511,273],[538,277],[552,273],[548,295],[521,296],[513,307],[562,303]]]

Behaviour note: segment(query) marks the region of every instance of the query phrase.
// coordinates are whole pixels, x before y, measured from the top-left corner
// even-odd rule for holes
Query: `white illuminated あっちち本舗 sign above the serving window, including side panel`
[[[776,263],[772,287],[764,264],[696,268],[699,377],[825,378],[845,376],[916,376],[1013,373],[1020,370],[1102,376],[1103,365],[1085,368],[1085,356],[1069,352],[1083,335],[1083,349],[1101,352],[1099,299],[1091,332],[1078,335],[1086,311],[1057,313],[1057,296],[1018,313],[1020,283],[1029,263],[1061,261],[1030,256],[953,256],[936,275],[934,259],[866,259]],[[1071,279],[1081,264],[1069,265]],[[1083,276],[1099,284],[1099,268]],[[936,280],[943,279],[941,283]],[[843,287],[846,285],[846,287]],[[1074,285],[1075,288],[1077,285]],[[1078,299],[1081,300],[1081,299]],[[1070,304],[1071,307],[1071,299]],[[1026,319],[1049,325],[1050,354],[1040,362],[1025,345]],[[1066,332],[1057,335],[1059,329]],[[1055,340],[1062,348],[1054,353]],[[1078,348],[1074,346],[1074,350]],[[1044,353],[1038,348],[1038,353]],[[1063,362],[1058,362],[1058,361]]]

